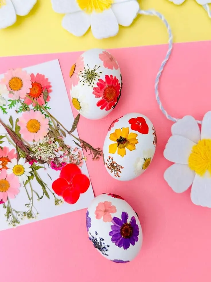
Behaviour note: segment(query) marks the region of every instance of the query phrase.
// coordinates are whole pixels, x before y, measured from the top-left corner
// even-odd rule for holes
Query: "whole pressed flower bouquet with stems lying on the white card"
[[[102,156],[100,148],[73,134],[80,114],[69,130],[51,114],[51,94],[55,95],[44,74],[11,69],[0,81],[0,128],[4,129],[0,135],[0,205],[11,226],[38,216],[36,200],[53,197],[55,206],[75,204],[90,187],[90,180],[80,170],[86,160],[82,149],[93,160]],[[67,136],[75,146],[67,144]],[[49,180],[43,180],[40,172],[47,169],[59,171],[59,178],[53,182],[46,173]],[[23,211],[11,203],[20,190],[25,190],[28,199]]]

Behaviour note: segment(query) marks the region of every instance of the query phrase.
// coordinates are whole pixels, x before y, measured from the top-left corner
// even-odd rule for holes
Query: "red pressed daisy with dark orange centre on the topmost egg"
[[[120,95],[120,83],[119,79],[113,77],[113,75],[106,75],[105,81],[99,79],[97,82],[98,87],[93,88],[93,94],[95,98],[100,98],[97,102],[97,106],[100,107],[101,110],[105,108],[105,110],[111,110],[111,107],[115,106],[117,99]]]

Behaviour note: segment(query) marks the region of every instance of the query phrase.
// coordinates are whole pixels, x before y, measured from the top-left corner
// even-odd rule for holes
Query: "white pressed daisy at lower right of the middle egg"
[[[133,165],[135,175],[137,176],[141,175],[144,172],[144,170],[148,168],[153,157],[154,157],[154,151],[152,149],[144,151],[143,157],[137,158]]]

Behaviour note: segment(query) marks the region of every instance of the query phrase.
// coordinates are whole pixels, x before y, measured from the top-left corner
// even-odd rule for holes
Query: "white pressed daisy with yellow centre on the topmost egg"
[[[84,94],[80,94],[79,91],[74,88],[71,90],[71,99],[73,103],[73,107],[78,110],[83,116],[86,116],[88,112],[89,105],[86,103],[86,97]]]

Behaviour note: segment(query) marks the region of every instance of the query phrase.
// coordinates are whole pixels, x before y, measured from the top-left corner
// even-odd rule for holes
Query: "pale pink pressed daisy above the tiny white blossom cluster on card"
[[[22,138],[29,142],[43,140],[49,132],[49,119],[40,111],[24,112],[17,124],[20,126]]]

